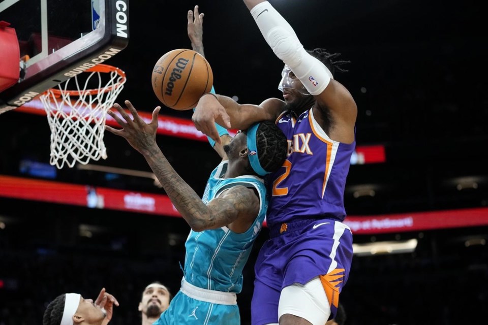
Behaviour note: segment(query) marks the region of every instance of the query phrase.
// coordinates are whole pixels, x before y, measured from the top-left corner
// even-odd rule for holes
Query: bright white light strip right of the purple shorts
[[[357,256],[411,253],[417,247],[417,243],[418,241],[416,239],[409,239],[365,244],[352,244],[352,251]]]

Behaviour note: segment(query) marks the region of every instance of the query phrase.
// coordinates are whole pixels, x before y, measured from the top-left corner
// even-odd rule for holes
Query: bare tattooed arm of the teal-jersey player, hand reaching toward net
[[[132,120],[120,105],[115,104],[114,107],[125,121],[112,111],[109,111],[109,114],[123,129],[117,130],[110,126],[105,126],[105,128],[115,135],[124,137],[146,158],[171,202],[192,230],[200,232],[222,226],[229,226],[232,231],[237,233],[248,230],[259,213],[259,199],[254,190],[244,186],[234,186],[228,189],[222,197],[205,205],[198,194],[174,171],[156,144],[160,107],[154,110],[153,120],[146,124],[139,117],[134,106],[129,101],[125,103],[134,119]]]

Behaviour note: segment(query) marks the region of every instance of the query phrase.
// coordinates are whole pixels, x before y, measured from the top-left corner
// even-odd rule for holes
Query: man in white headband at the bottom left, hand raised
[[[44,312],[43,325],[106,325],[112,319],[113,305],[118,302],[112,295],[100,291],[97,300],[84,299],[79,294],[64,294],[49,303]]]

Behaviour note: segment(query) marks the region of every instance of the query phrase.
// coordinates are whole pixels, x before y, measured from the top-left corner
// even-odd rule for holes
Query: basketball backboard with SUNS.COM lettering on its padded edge
[[[2,20],[16,29],[28,60],[19,58],[19,82],[0,92],[0,114],[105,62],[129,41],[129,0],[3,0]]]

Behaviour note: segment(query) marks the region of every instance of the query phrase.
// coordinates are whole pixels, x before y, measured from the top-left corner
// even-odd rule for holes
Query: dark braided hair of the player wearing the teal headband
[[[283,132],[271,121],[264,121],[256,132],[259,163],[267,172],[275,172],[284,163],[288,144]],[[252,171],[251,166],[249,168]]]

